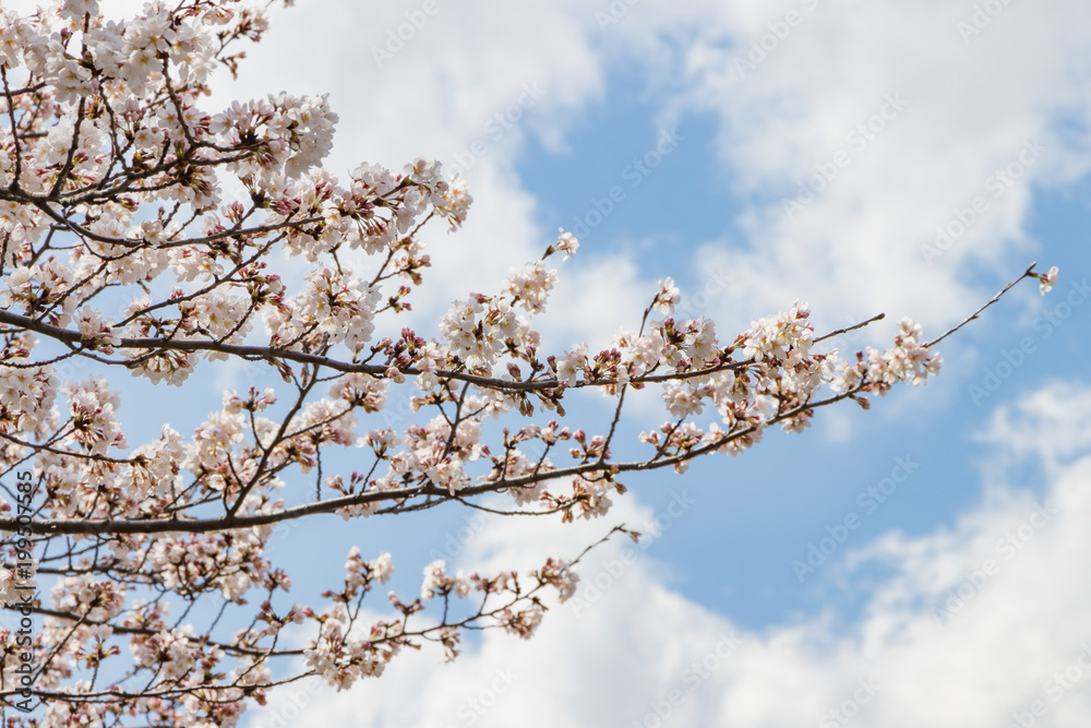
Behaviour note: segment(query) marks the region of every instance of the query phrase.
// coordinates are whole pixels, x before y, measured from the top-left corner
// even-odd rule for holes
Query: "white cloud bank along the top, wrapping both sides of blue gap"
[[[434,7],[431,15],[415,0],[277,12],[239,83],[209,100],[216,108],[235,95],[328,92],[341,117],[331,160],[340,171],[418,155],[467,167],[481,142],[467,170],[477,203],[458,235],[430,234],[432,283],[418,296],[413,325],[431,324],[469,290],[494,290],[511,265],[552,241],[555,225],[536,220],[516,171],[519,154],[531,136],[564,148],[573,121],[622,64],[636,64],[656,87],[658,122],[711,111],[733,192],[745,195],[736,201],[758,200],[743,208],[743,240],[709,241],[694,263],[698,281],[707,270],[732,272],[729,290],[708,306],[733,325],[799,297],[822,326],[882,310],[936,331],[993,293],[995,284],[968,283],[974,271],[998,283],[1033,256],[1024,230],[1033,186],[1070,181],[1091,165],[1079,131],[1091,119],[1091,64],[1081,60],[1091,25],[1080,22],[1091,8],[1078,0],[1008,5],[969,41],[958,23],[972,20],[971,0]],[[618,22],[602,25],[598,12]],[[788,20],[799,22],[786,32]],[[765,44],[765,57],[740,67],[752,62],[752,44]],[[541,93],[527,96],[527,87]],[[882,110],[892,117],[884,131],[855,131]],[[1045,151],[1000,192],[990,176],[1020,154],[1029,159],[1024,144],[1038,148],[1035,139]],[[847,166],[786,217],[782,200],[838,152]],[[978,196],[987,210],[930,265],[922,249],[935,244],[936,227],[957,229],[958,212]],[[573,341],[606,337],[615,321],[638,314],[623,307],[658,277],[638,265],[611,275],[580,266],[577,259],[564,274],[594,281],[592,298],[610,306],[589,317],[589,296],[583,305],[559,297],[549,325]]]

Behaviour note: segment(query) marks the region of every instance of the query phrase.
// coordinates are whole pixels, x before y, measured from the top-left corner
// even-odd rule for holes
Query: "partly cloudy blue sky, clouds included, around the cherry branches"
[[[432,232],[433,293],[415,319],[422,331],[453,298],[494,289],[509,266],[537,259],[558,227],[587,222],[597,201],[603,210],[612,187],[624,200],[563,264],[540,322],[556,349],[602,346],[620,325],[637,325],[667,275],[691,297],[726,277],[700,311],[721,339],[796,297],[824,329],[888,314],[841,342],[846,350],[885,343],[902,315],[938,334],[1034,260],[1058,265],[1062,279],[1045,298],[1024,283],[944,343],[938,380],[876,399],[871,411],[849,405],[803,435],[770,432],[743,456],[633,478],[602,522],[472,522],[449,561],[509,568],[577,552],[613,523],[693,501],[620,576],[611,569],[621,545],[590,560],[586,583],[609,586],[585,594],[586,609],[554,609],[539,639],[490,634],[451,666],[436,652],[406,656],[348,693],[309,690],[295,708],[277,696],[248,725],[772,727],[847,725],[852,713],[859,726],[1003,726],[1035,701],[1045,708],[1035,725],[1086,723],[1091,679],[1056,700],[1045,681],[1091,637],[1091,587],[1081,582],[1091,557],[1091,309],[1058,309],[1069,295],[1081,299],[1074,283],[1091,272],[1091,10],[1075,0],[984,4],[998,12],[967,35],[959,24],[974,22],[975,5],[962,0],[616,0],[624,12],[604,28],[596,13],[609,2],[440,0],[382,64],[374,49],[419,10],[415,0],[301,2],[277,13],[209,108],[285,88],[329,92],[341,116],[329,160],[339,172],[418,155],[454,162],[484,141],[467,170],[476,204],[466,228]],[[763,43],[765,57],[740,72]],[[544,89],[540,98],[509,128],[490,126],[527,98],[527,84]],[[887,106],[892,96],[904,108]],[[853,131],[870,122],[882,131],[855,144]],[[664,131],[676,146],[634,177],[632,160]],[[996,171],[1024,148],[1043,151],[997,188]],[[839,153],[837,176],[787,216],[783,202]],[[935,229],[968,219],[962,211],[978,198],[983,212],[928,260],[922,248]],[[1033,351],[1005,373],[1005,353],[1023,341]],[[999,386],[975,396],[991,372],[1004,374]],[[155,432],[169,410],[184,432],[218,406],[217,387],[277,382],[261,368],[217,369],[184,390],[155,391],[155,409],[129,405],[122,415],[130,431]],[[135,380],[128,386],[128,402],[143,392]],[[209,396],[203,410],[192,404],[199,389]],[[602,429],[607,404],[574,402],[571,418]],[[630,454],[659,419],[655,402],[630,413]],[[867,489],[884,479],[897,488],[873,509]],[[1058,514],[1006,559],[997,539],[1046,501]],[[313,523],[276,548],[290,549],[301,600],[339,578],[353,544],[365,557],[392,551],[395,587],[411,594],[469,515]],[[853,515],[859,527],[801,581],[793,562]],[[966,613],[937,619],[990,559],[998,574],[974,588]],[[728,657],[716,652],[723,634],[742,641]],[[716,669],[691,680],[687,666],[705,658]],[[497,670],[520,677],[495,682]],[[883,688],[859,692],[872,677]],[[491,695],[487,709],[467,707],[481,695]]]

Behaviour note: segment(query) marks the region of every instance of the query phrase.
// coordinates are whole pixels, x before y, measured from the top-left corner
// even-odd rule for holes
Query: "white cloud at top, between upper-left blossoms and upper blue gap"
[[[328,93],[340,117],[335,171],[361,160],[400,168],[418,156],[465,171],[475,198],[466,225],[453,236],[439,225],[425,232],[432,270],[411,299],[419,313],[406,321],[427,331],[452,300],[499,290],[511,266],[538,260],[556,240],[558,225],[533,222],[536,201],[515,163],[529,135],[563,146],[572,119],[602,93],[602,59],[571,4],[481,0],[467,8],[437,0],[423,24],[420,2],[301,4],[276,13],[239,83],[223,86],[211,106],[226,104],[227,94]],[[408,38],[395,53],[392,32]],[[571,275],[573,265],[566,267]],[[627,301],[636,273],[619,268],[595,288],[601,299]],[[565,322],[595,320],[563,299],[552,308],[552,325],[570,336],[587,326]]]

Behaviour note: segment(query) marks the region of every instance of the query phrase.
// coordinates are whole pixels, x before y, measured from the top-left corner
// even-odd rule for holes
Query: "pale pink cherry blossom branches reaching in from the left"
[[[670,278],[606,348],[541,351],[551,256],[579,247],[564,230],[492,294],[454,301],[437,335],[415,332],[403,313],[431,275],[425,225],[464,223],[464,181],[422,158],[323,168],[337,124],[325,96],[211,108],[213,70],[261,39],[266,0],[149,0],[121,20],[100,4],[0,9],[0,461],[33,480],[23,556],[49,597],[31,607],[40,717],[12,728],[232,726],[277,684],[273,660],[298,655],[289,645],[305,645],[303,675],[343,690],[404,647],[453,658],[467,629],[529,637],[577,589],[579,558],[492,575],[433,561],[419,596],[391,592],[364,623],[389,553],[353,548],[305,606],[287,598],[277,544],[311,516],[489,493],[511,512],[602,517],[626,473],[739,454],[770,426],[798,432],[819,406],[938,371],[908,320],[885,351],[819,351],[802,303],[721,338],[675,313]],[[1057,270],[1023,277],[1045,293]],[[178,385],[240,363],[285,384],[228,390],[195,427],[127,438],[109,372]],[[625,397],[645,389],[666,421],[621,462]],[[580,390],[613,397],[599,432],[562,425]],[[22,526],[5,501],[0,525]],[[17,598],[16,556],[0,599]]]

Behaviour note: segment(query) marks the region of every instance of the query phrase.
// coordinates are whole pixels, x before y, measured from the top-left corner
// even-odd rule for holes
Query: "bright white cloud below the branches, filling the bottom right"
[[[736,629],[669,588],[642,548],[618,541],[582,566],[580,601],[554,607],[533,640],[490,633],[454,666],[435,651],[403,657],[379,681],[317,695],[298,725],[627,727],[661,725],[657,711],[669,711],[672,723],[662,725],[788,728],[842,725],[830,713],[839,709],[859,711],[856,726],[964,728],[1009,725],[1012,713],[1034,707],[1045,711],[1034,725],[1086,724],[1091,670],[1080,660],[1091,666],[1091,648],[1081,657],[1091,645],[1091,585],[1072,576],[1091,559],[1091,455],[1082,435],[1059,450],[1053,435],[1087,433],[1091,410],[1063,403],[1088,397],[1087,385],[1057,384],[1015,408],[1041,429],[990,429],[997,453],[1050,463],[1048,482],[998,484],[950,529],[888,534],[850,554],[850,570],[883,562],[892,575],[848,628],[824,614]],[[1039,485],[1043,497],[1032,492]],[[684,527],[684,510],[669,522],[666,513],[667,528]],[[631,498],[613,515],[655,517]],[[552,520],[493,526],[459,565],[529,566],[544,544],[571,552],[602,529]],[[741,641],[734,651],[732,635]],[[253,725],[272,727],[262,720],[278,709],[274,701]]]

